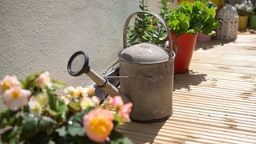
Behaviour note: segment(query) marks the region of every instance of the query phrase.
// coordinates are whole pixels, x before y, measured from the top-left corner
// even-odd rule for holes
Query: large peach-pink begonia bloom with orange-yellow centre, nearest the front
[[[83,117],[83,127],[87,136],[94,142],[109,140],[108,136],[114,127],[113,119],[113,114],[108,110],[91,110]]]

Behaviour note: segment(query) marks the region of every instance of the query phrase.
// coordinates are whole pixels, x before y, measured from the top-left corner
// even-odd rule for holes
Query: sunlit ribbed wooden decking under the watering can
[[[118,130],[135,143],[256,143],[256,35],[199,43],[173,103],[166,122]]]

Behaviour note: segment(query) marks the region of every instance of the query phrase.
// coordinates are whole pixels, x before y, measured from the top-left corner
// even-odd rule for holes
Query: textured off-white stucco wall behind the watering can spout
[[[135,10],[138,0],[1,0],[0,78],[48,70],[70,85],[86,85],[86,76],[67,74],[68,58],[85,50],[102,74],[117,60],[122,26]]]

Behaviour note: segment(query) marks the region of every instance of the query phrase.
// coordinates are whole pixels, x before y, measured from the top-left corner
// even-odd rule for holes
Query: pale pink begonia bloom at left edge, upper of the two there
[[[0,94],[4,94],[6,90],[9,90],[13,86],[21,86],[21,83],[18,82],[16,76],[6,76],[0,82]]]

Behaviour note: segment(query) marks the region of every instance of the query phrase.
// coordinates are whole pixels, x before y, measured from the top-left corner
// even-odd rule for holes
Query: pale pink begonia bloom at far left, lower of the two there
[[[26,106],[30,94],[30,90],[22,90],[20,86],[14,86],[10,90],[6,90],[3,100],[10,110],[18,110],[20,107]]]

